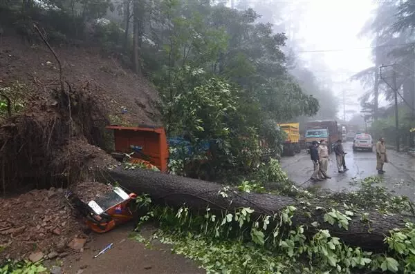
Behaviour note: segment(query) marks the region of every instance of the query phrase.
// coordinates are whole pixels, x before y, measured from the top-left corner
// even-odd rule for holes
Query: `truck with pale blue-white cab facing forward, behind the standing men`
[[[311,146],[313,141],[324,140],[329,148],[329,153],[333,150],[335,142],[340,139],[341,131],[337,121],[320,120],[308,121],[306,124],[306,146]]]

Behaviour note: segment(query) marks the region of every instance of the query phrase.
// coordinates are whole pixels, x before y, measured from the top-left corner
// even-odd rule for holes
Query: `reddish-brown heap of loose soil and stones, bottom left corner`
[[[3,199],[0,215],[0,264],[3,259],[68,254],[73,239],[83,242],[84,225],[64,197],[62,188],[31,190]],[[81,240],[80,240],[81,239]]]

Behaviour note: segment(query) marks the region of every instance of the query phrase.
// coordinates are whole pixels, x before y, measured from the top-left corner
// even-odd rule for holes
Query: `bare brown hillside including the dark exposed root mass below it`
[[[3,193],[93,179],[116,163],[104,151],[113,144],[105,126],[160,125],[156,90],[99,48],[52,45],[56,58],[42,41],[0,41],[1,96],[10,102],[0,121]]]

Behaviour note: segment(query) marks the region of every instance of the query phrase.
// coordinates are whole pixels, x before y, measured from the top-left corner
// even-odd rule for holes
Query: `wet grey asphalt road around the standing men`
[[[338,173],[335,164],[335,155],[330,155],[329,176],[324,182],[306,182],[313,173],[313,163],[310,155],[302,150],[294,157],[282,157],[282,168],[288,173],[288,177],[299,185],[321,186],[333,191],[353,190],[358,186],[353,186],[350,182],[363,179],[369,176],[380,176],[384,179],[384,184],[392,193],[406,195],[410,199],[415,199],[415,157],[405,153],[396,153],[388,150],[389,163],[385,164],[384,175],[378,175],[376,170],[376,153],[357,151],[353,152],[351,142],[343,144],[346,155],[346,165],[349,170],[346,173]]]

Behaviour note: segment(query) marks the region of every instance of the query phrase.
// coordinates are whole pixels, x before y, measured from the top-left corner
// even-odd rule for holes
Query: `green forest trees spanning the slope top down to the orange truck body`
[[[158,88],[167,133],[186,135],[195,144],[215,139],[219,166],[259,157],[259,140],[279,153],[284,135],[277,123],[315,115],[320,107],[288,73],[282,50],[286,35],[259,22],[252,9],[232,10],[204,0],[30,3],[24,28],[30,29],[33,20],[61,40],[92,41],[121,56]],[[19,4],[5,8],[23,16]]]

